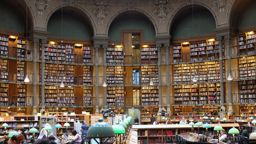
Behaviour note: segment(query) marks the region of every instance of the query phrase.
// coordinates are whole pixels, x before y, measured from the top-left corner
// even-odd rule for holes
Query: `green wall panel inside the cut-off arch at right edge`
[[[256,25],[256,2],[253,2],[248,9],[245,10],[243,17],[239,22],[239,28],[248,28]]]

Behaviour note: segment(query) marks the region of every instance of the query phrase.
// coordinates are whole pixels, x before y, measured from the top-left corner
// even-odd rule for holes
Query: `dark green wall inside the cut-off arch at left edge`
[[[14,9],[0,0],[0,28],[24,32],[24,25]]]

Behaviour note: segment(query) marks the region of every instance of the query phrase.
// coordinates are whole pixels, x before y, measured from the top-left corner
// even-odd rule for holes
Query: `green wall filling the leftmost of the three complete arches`
[[[81,21],[71,16],[63,15],[63,38],[91,39],[89,28]],[[47,31],[51,37],[61,36],[61,15],[53,14],[47,24]]]

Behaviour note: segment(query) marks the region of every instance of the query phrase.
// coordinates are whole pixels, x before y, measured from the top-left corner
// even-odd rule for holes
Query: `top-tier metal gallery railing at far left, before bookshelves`
[[[0,56],[1,57],[12,57],[15,59],[33,59],[33,50],[26,50],[24,48],[17,48],[17,47],[6,47],[1,46],[0,49]]]

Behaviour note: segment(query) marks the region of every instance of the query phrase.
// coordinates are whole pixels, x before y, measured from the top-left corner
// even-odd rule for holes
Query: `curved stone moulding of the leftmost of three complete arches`
[[[74,15],[78,16],[81,15],[81,19],[83,20],[84,23],[88,24],[91,32],[92,32],[92,36],[96,35],[96,27],[95,27],[95,23],[93,21],[93,18],[89,15],[89,13],[83,9],[80,6],[70,6],[68,4],[63,4],[63,7],[61,7],[61,5],[55,7],[54,9],[52,9],[52,11],[50,11],[50,13],[48,14],[48,16],[46,17],[45,20],[45,28],[47,29],[47,24],[48,21],[50,19],[50,17],[57,11],[61,10],[61,8],[63,9],[63,11],[72,11],[72,13],[74,13]]]

